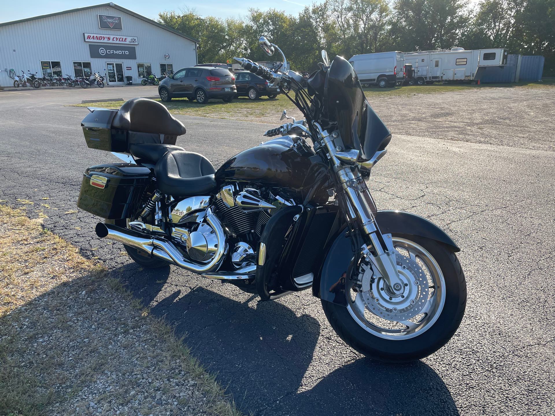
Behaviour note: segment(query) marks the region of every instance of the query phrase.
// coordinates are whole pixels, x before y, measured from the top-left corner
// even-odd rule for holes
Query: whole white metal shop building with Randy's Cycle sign
[[[0,87],[21,71],[39,77],[98,72],[109,85],[125,77],[173,73],[197,63],[198,40],[114,3],[0,23]],[[13,76],[13,72],[12,72]]]

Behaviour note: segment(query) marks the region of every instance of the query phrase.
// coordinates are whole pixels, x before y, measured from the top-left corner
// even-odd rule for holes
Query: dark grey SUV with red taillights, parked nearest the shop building
[[[201,104],[210,98],[221,98],[230,103],[236,93],[235,77],[223,68],[183,68],[158,85],[158,94],[164,102],[186,97]]]

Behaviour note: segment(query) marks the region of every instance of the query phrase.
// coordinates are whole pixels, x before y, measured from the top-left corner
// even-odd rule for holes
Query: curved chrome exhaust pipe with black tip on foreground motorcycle
[[[99,222],[95,228],[97,236],[132,246],[149,253],[151,256],[161,258],[176,266],[189,270],[193,273],[208,273],[220,266],[225,253],[224,229],[210,209],[206,210],[206,221],[212,227],[218,239],[218,247],[212,260],[206,264],[196,264],[186,259],[183,254],[168,240],[159,237],[150,237],[139,232],[128,230],[112,224]]]

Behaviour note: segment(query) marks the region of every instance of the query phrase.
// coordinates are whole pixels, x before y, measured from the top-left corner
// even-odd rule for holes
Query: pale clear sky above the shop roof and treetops
[[[125,7],[135,13],[150,19],[158,17],[159,12],[179,11],[186,7],[196,9],[201,16],[216,17],[243,17],[248,13],[249,8],[267,10],[276,8],[287,13],[296,15],[305,6],[311,4],[311,0],[203,0],[201,2],[190,2],[183,0],[164,0],[155,2],[152,0],[112,0],[118,6]],[[41,16],[55,12],[62,12],[68,9],[93,6],[94,4],[109,3],[109,0],[97,0],[90,2],[72,0],[23,0],[11,1],[0,0],[0,23],[11,22],[27,17]],[[22,4],[24,6],[22,6]]]

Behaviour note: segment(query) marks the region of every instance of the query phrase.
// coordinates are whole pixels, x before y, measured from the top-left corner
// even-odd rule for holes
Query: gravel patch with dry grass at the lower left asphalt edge
[[[0,205],[0,414],[240,414],[173,328],[40,221]]]

